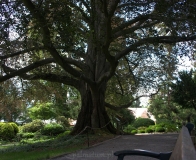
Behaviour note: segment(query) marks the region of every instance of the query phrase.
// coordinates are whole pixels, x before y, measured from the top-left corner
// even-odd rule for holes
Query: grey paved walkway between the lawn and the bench
[[[178,134],[123,135],[88,149],[80,150],[52,160],[117,160],[115,151],[144,149],[154,152],[172,151]],[[126,156],[124,160],[155,160],[150,157]]]

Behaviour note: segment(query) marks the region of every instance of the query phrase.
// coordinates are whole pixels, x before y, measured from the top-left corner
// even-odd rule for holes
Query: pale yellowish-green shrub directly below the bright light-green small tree
[[[37,132],[44,127],[41,120],[37,119],[22,126],[23,132]]]

